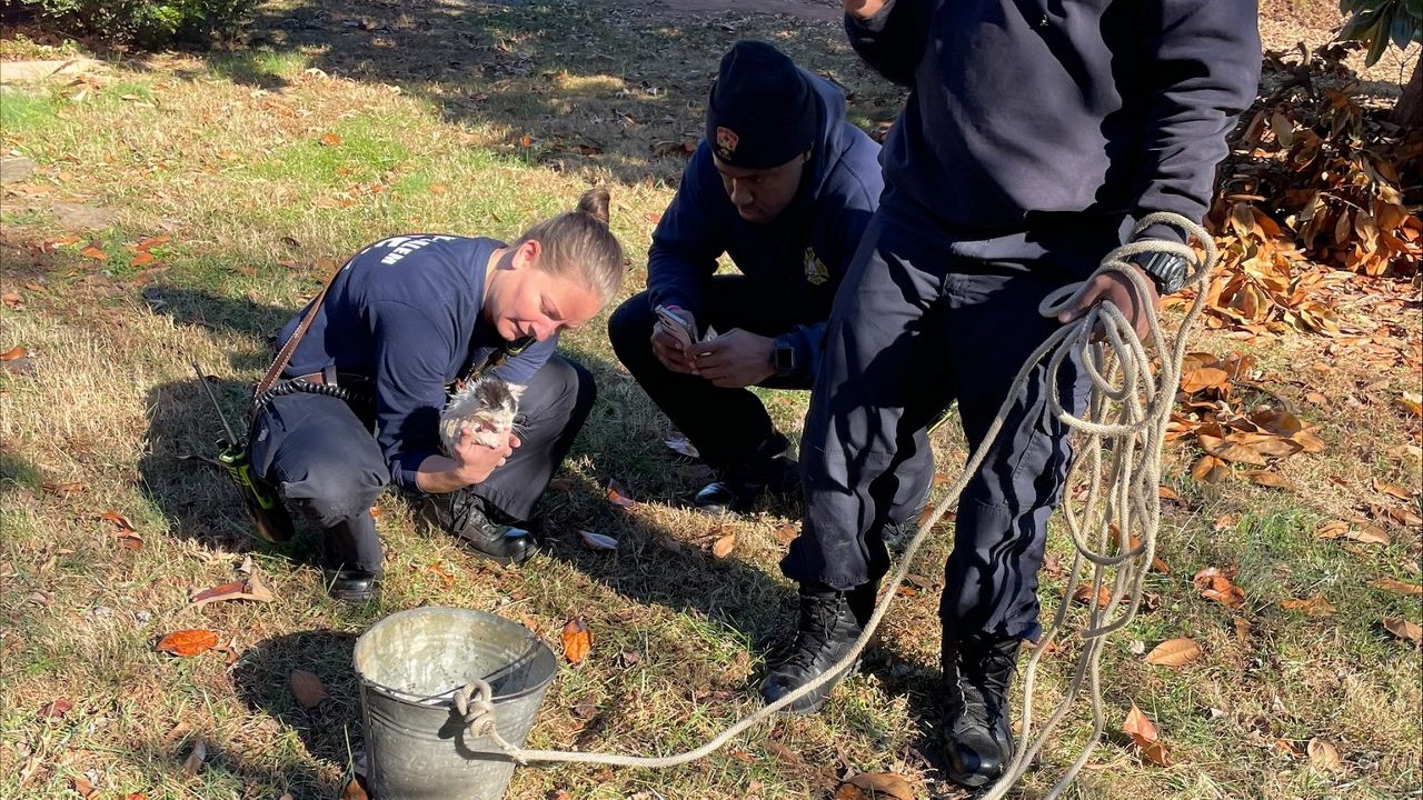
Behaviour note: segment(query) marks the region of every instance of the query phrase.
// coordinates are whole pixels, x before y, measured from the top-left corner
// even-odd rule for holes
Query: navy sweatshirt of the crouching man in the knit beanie
[[[859,238],[879,202],[879,145],[844,120],[845,95],[804,70],[817,98],[818,127],[800,191],[776,219],[741,219],[703,141],[652,235],[647,292],[653,305],[704,317],[706,280],[729,253],[747,278],[795,320],[784,337],[795,347],[800,379],[820,366],[830,306]],[[724,332],[721,332],[724,333]]]

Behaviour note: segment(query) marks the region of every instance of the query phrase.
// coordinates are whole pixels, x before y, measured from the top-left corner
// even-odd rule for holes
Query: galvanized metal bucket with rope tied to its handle
[[[354,665],[376,800],[498,800],[514,762],[468,733],[454,695],[487,680],[499,736],[521,747],[558,659],[518,622],[427,606],[377,622],[356,641]]]

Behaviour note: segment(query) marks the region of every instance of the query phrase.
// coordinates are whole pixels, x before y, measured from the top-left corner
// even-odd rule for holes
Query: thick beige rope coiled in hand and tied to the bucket
[[[918,552],[925,535],[958,501],[963,493],[963,487],[978,473],[1015,401],[1027,386],[1033,370],[1039,364],[1046,363],[1049,376],[1046,394],[1052,404],[1052,414],[1070,430],[1081,434],[1081,440],[1074,444],[1077,457],[1069,475],[1069,485],[1072,484],[1070,478],[1083,470],[1087,471],[1089,483],[1081,511],[1073,511],[1073,498],[1070,497],[1064,497],[1062,502],[1067,530],[1072,534],[1077,552],[1073,558],[1073,567],[1057,614],[1027,660],[1023,678],[1023,712],[1016,754],[1003,777],[986,796],[986,800],[1003,797],[1023,776],[1032,759],[1043,747],[1047,736],[1072,710],[1086,682],[1090,686],[1093,733],[1083,747],[1081,754],[1069,767],[1062,780],[1053,786],[1046,800],[1062,794],[1083,764],[1087,763],[1101,737],[1104,726],[1100,680],[1103,643],[1109,633],[1130,623],[1136,615],[1137,606],[1141,604],[1143,581],[1155,555],[1157,525],[1161,518],[1161,500],[1157,494],[1161,473],[1161,444],[1165,440],[1165,426],[1171,419],[1171,409],[1175,404],[1175,390],[1181,379],[1181,360],[1185,356],[1187,332],[1201,312],[1205,300],[1205,280],[1214,269],[1217,259],[1215,243],[1211,236],[1200,225],[1190,222],[1184,216],[1175,214],[1151,214],[1141,219],[1137,225],[1137,232],[1157,223],[1174,225],[1194,236],[1205,249],[1205,258],[1202,259],[1191,248],[1177,242],[1133,242],[1111,251],[1093,276],[1107,272],[1123,273],[1136,288],[1138,298],[1148,298],[1150,285],[1141,275],[1141,270],[1127,260],[1128,258],[1148,251],[1164,251],[1180,255],[1191,265],[1188,285],[1197,289],[1195,300],[1181,320],[1174,339],[1168,342],[1164,337],[1155,309],[1150,306],[1146,309],[1151,340],[1158,343],[1158,376],[1153,376],[1151,373],[1151,357],[1131,327],[1131,320],[1111,303],[1097,303],[1086,316],[1070,325],[1064,325],[1043,342],[1027,357],[1022,370],[1019,370],[1012,389],[999,407],[993,424],[983,437],[983,443],[979,444],[965,463],[963,471],[953,481],[953,485],[949,487],[943,500],[933,508],[933,512],[921,520],[918,532],[915,532],[904,555],[899,558],[899,567],[894,571],[894,577],[889,579],[888,588],[879,598],[868,623],[865,623],[864,632],[859,633],[854,646],[838,663],[800,689],[731,725],[706,744],[683,753],[649,757],[620,753],[524,750],[521,747],[511,747],[499,739],[495,743],[521,764],[529,762],[565,762],[643,769],[679,766],[716,752],[734,736],[766,722],[785,706],[815,692],[827,682],[835,680],[841,673],[848,672],[889,609],[889,602],[909,572],[915,552]],[[1090,279],[1084,283],[1074,283],[1053,292],[1043,299],[1039,312],[1043,316],[1056,317],[1060,312],[1076,303],[1086,290],[1087,283],[1090,283]],[[1074,416],[1059,403],[1057,370],[1074,353],[1079,357],[1077,360],[1086,367],[1089,380],[1091,381],[1091,399],[1089,400],[1086,417]],[[1117,383],[1113,381],[1114,376],[1120,376]],[[1127,547],[1131,534],[1140,535],[1140,544],[1136,548]],[[1066,696],[1035,736],[1033,688],[1037,663],[1043,652],[1047,651],[1049,645],[1063,629],[1067,608],[1080,584],[1084,562],[1091,564],[1090,586],[1093,594],[1090,595],[1091,611],[1089,625],[1080,633],[1084,643],[1083,652],[1077,658],[1076,670],[1067,686]],[[1099,608],[1096,604],[1097,592],[1109,584],[1109,579],[1111,584],[1111,599],[1106,606]],[[455,702],[458,705],[460,698]],[[465,698],[465,703],[468,705],[468,698]],[[490,706],[488,710],[481,707],[480,716],[474,719],[481,722],[481,725],[488,725],[488,730],[492,732],[494,707],[492,703],[485,705]],[[464,716],[465,710],[460,713]],[[484,729],[481,727],[481,730]]]

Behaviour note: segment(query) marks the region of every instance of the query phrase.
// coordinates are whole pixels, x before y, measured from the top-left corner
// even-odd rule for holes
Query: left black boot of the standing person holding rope
[[[865,584],[848,592],[837,592],[825,586],[803,586],[800,606],[795,648],[761,682],[761,699],[767,703],[774,703],[820,678],[845,658],[874,612],[875,586]],[[848,670],[841,672],[832,680],[822,683],[814,692],[781,710],[800,715],[818,712],[830,699],[831,689],[847,673]]]

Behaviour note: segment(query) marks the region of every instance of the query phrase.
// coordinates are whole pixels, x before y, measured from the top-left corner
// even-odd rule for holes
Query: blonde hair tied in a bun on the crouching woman
[[[608,189],[593,186],[578,199],[575,211],[529,228],[514,246],[536,241],[542,248],[538,269],[579,280],[608,303],[628,272],[622,245],[608,229]]]

